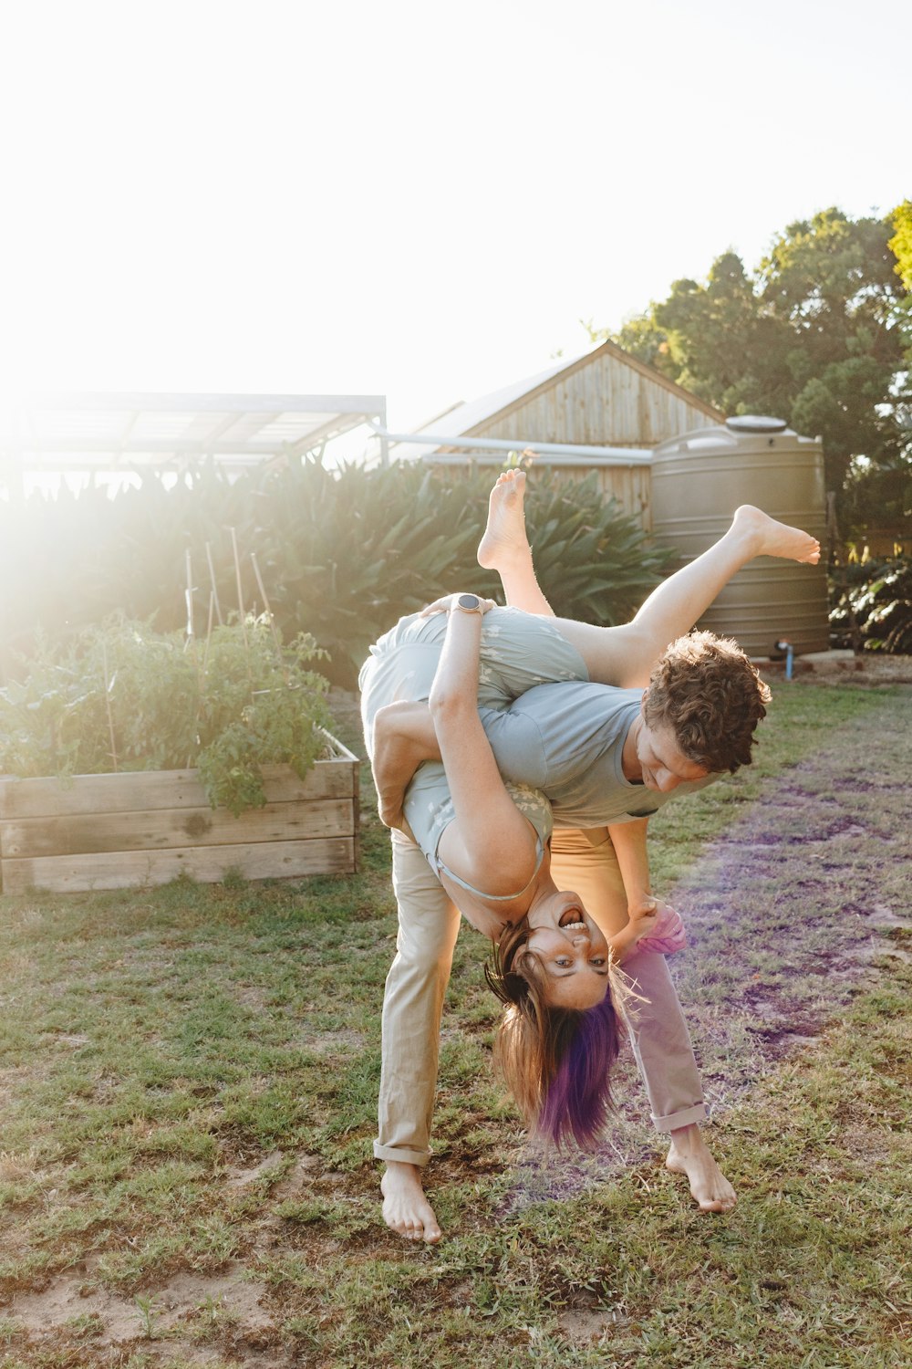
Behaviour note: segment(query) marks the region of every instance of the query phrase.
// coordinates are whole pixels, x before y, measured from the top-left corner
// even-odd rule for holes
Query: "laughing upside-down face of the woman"
[[[595,1008],[608,991],[608,943],[577,894],[547,894],[529,909],[526,947],[539,957],[552,1008]]]

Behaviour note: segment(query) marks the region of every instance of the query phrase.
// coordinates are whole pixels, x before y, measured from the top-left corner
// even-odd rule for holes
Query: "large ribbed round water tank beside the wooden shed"
[[[652,533],[680,553],[706,552],[738,504],[757,508],[819,538],[826,531],[820,438],[799,437],[781,419],[738,416],[670,438],[652,453]],[[830,645],[824,565],[757,556],[734,576],[700,627],[734,637],[749,656],[781,656]]]

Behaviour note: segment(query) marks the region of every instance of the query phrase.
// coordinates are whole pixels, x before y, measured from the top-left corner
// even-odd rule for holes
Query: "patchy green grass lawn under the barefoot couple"
[[[655,821],[723,1217],[665,1170],[629,1062],[598,1155],[525,1146],[466,930],[447,1236],[384,1229],[366,784],[353,878],[3,898],[0,1365],[908,1365],[911,711],[779,684],[759,763]]]

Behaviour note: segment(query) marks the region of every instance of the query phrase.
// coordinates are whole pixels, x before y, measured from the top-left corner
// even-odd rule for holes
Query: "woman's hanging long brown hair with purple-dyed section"
[[[506,1005],[495,1060],[531,1132],[558,1147],[573,1138],[592,1150],[613,1108],[623,990],[611,973],[596,1008],[551,1006],[529,935],[526,919],[507,924],[484,967],[489,988]]]

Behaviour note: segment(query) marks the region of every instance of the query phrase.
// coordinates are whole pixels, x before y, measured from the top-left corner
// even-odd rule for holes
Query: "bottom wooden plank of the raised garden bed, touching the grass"
[[[256,842],[238,846],[189,846],[165,852],[105,852],[90,856],[45,856],[3,862],[4,893],[30,887],[52,893],[130,888],[167,884],[186,873],[201,883],[238,871],[246,879],[289,879],[314,873],[345,873],[354,868],[353,836],[313,841]]]

